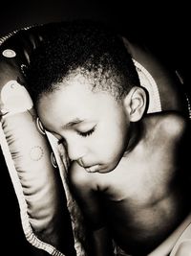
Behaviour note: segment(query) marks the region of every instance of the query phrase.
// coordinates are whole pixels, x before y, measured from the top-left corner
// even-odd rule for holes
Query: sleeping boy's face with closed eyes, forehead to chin
[[[106,92],[92,92],[89,81],[74,77],[42,96],[37,105],[44,127],[63,139],[71,160],[87,172],[116,168],[128,145],[125,106]]]

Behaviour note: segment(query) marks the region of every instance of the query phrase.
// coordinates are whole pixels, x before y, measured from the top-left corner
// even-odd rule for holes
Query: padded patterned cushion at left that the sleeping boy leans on
[[[67,198],[53,150],[21,82],[23,45],[12,36],[0,51],[0,143],[23,230],[37,248],[52,255],[76,255]]]

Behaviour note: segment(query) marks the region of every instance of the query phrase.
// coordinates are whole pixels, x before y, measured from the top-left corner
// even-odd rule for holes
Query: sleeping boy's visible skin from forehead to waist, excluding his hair
[[[70,185],[92,231],[90,255],[113,255],[111,238],[146,255],[190,212],[186,121],[174,112],[143,116],[141,88],[117,103],[90,86],[80,75],[63,81],[41,97],[38,115],[72,160]]]

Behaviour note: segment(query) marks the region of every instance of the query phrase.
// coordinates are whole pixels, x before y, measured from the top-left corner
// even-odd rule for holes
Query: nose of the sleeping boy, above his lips
[[[81,159],[85,155],[85,148],[81,145],[78,145],[77,142],[75,143],[68,143],[67,144],[67,151],[69,158],[72,161],[76,161]]]

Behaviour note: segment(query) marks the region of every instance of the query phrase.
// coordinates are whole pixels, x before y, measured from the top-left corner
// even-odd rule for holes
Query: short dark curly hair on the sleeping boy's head
[[[122,36],[90,20],[58,22],[31,57],[26,79],[32,100],[52,92],[60,82],[80,72],[92,78],[92,88],[109,91],[121,100],[139,85],[132,57]]]

